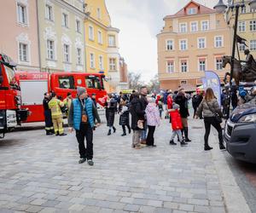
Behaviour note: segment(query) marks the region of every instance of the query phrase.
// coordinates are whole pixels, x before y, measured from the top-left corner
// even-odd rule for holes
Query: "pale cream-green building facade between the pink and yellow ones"
[[[85,72],[84,1],[38,1],[42,72]]]

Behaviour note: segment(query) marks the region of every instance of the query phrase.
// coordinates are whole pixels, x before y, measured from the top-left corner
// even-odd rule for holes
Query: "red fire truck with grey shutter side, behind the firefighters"
[[[54,91],[64,100],[70,92],[76,97],[77,88],[84,87],[89,95],[96,94],[96,101],[103,105],[107,95],[104,89],[102,74],[82,72],[16,72],[16,79],[20,85],[21,108],[28,108],[31,115],[26,122],[44,121],[43,97],[45,92]]]

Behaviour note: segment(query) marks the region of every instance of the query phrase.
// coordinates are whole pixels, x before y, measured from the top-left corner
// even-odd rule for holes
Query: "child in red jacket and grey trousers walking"
[[[186,143],[183,140],[183,136],[182,136],[182,132],[181,130],[183,129],[183,123],[182,123],[182,119],[179,113],[179,106],[176,103],[172,104],[172,109],[169,110],[171,118],[172,118],[172,138],[170,141],[170,145],[177,145],[177,143],[175,143],[173,140],[175,138],[175,136],[177,135],[180,145],[181,146],[185,146],[188,143]]]

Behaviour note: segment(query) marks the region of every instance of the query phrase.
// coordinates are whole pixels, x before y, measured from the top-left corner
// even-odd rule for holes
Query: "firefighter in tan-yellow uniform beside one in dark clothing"
[[[64,103],[57,99],[55,93],[52,94],[52,99],[49,101],[49,109],[51,111],[51,118],[54,124],[55,135],[64,136],[63,121],[61,107],[64,107]]]

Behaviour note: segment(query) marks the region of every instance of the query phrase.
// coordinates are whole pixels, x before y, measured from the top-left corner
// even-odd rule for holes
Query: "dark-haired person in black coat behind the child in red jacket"
[[[180,116],[183,122],[183,133],[185,135],[185,141],[190,142],[189,140],[189,125],[188,125],[188,117],[189,117],[189,101],[185,96],[184,90],[180,89],[177,97],[175,99],[175,103],[177,103],[180,107]]]

